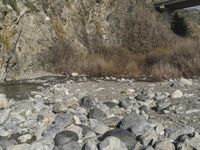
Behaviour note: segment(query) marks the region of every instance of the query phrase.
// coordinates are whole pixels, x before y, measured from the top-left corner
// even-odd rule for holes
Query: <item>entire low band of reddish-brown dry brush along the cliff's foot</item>
[[[58,42],[41,55],[44,68],[61,74],[133,77],[146,74],[152,80],[196,77],[200,75],[200,42],[179,39],[173,48],[157,48],[147,53],[133,53],[119,47],[100,47],[81,55],[69,42]],[[44,59],[46,58],[46,59]]]

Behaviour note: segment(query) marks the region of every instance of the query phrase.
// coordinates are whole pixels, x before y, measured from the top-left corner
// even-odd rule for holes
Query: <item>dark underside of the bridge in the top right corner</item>
[[[200,5],[200,0],[168,0],[161,3],[154,4],[156,10],[163,11],[175,11],[178,9],[188,8]]]

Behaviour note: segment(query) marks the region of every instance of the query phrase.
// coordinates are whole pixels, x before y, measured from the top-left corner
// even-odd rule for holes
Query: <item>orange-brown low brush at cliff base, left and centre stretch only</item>
[[[48,56],[47,56],[48,55]],[[91,76],[139,77],[139,62],[144,62],[140,54],[132,55],[122,48],[104,47],[87,55],[77,55],[69,43],[57,43],[50,52],[41,55],[42,64],[49,71],[61,74],[77,72]],[[43,59],[48,58],[48,59]],[[142,60],[143,59],[143,60]],[[137,60],[137,63],[136,63]],[[44,62],[45,61],[45,62]],[[52,70],[52,68],[54,68]]]

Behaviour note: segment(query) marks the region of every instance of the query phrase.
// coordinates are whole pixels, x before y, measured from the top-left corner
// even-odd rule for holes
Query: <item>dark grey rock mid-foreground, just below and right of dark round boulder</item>
[[[91,109],[90,112],[88,113],[88,117],[92,119],[97,119],[99,121],[102,121],[103,119],[105,119],[104,112],[98,108]]]

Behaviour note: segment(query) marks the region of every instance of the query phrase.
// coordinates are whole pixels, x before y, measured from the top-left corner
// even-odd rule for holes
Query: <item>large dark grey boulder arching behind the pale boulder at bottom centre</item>
[[[136,136],[124,129],[116,128],[114,130],[108,131],[103,135],[103,139],[106,139],[109,136],[114,136],[120,139],[123,143],[125,143],[128,149],[134,149],[137,143]]]

